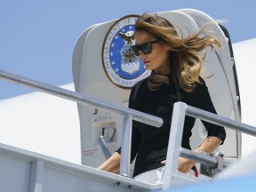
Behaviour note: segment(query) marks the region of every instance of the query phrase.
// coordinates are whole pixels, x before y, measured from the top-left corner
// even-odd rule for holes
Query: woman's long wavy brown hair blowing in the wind
[[[196,33],[188,37],[178,36],[176,29],[169,20],[151,13],[144,13],[135,23],[135,33],[145,30],[148,34],[155,36],[160,44],[169,50],[171,74],[160,76],[152,73],[148,78],[148,87],[157,90],[161,84],[169,83],[169,78],[177,86],[186,92],[193,92],[196,83],[200,83],[200,71],[207,52],[201,57],[206,47],[211,50],[220,47],[220,39],[216,36],[200,36],[204,28],[198,29]]]

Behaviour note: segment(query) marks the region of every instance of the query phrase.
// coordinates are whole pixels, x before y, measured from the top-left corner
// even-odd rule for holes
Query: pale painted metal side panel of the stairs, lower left
[[[4,144],[0,144],[0,167],[0,190],[4,192],[113,192],[157,188]]]

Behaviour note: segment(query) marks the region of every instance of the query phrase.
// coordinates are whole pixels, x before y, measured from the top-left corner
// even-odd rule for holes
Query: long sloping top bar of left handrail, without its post
[[[139,121],[143,124],[150,124],[156,127],[160,127],[163,124],[163,119],[157,116],[151,116],[146,113],[142,113],[140,111],[134,110],[132,108],[125,108],[120,105],[110,103],[106,100],[98,100],[98,99],[86,96],[80,92],[72,92],[58,86],[53,86],[51,84],[44,84],[42,82],[27,78],[24,76],[14,75],[4,70],[0,70],[0,76],[3,77],[5,80],[9,80],[9,82],[12,82],[13,84],[25,85],[30,88],[34,88],[40,92],[49,93],[67,100],[73,100],[83,105],[89,105],[89,106],[106,109],[109,112],[112,112],[114,114],[121,115],[121,116],[125,116],[129,114],[132,116],[133,120]]]

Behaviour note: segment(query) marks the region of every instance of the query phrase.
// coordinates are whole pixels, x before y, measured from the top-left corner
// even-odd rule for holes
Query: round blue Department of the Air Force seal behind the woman
[[[144,67],[140,57],[133,54],[134,24],[138,15],[127,15],[109,28],[102,47],[103,68],[109,80],[119,87],[132,88],[151,71]]]

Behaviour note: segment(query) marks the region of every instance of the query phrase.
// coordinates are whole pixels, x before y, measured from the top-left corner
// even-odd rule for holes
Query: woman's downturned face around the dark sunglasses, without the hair
[[[151,36],[144,30],[138,30],[135,33],[136,44],[145,44],[154,42],[156,37]],[[144,62],[144,65],[149,70],[155,70],[156,74],[167,75],[170,73],[170,60],[168,56],[168,50],[163,44],[156,42],[151,44],[152,52],[145,54],[140,51],[140,59]]]

